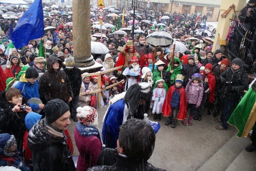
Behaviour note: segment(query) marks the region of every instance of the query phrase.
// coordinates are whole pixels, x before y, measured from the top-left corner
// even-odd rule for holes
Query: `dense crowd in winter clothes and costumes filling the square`
[[[67,130],[69,118],[77,122],[77,170],[90,171],[163,170],[147,162],[154,150],[155,133],[143,121],[144,113],[152,111],[154,121],[160,121],[161,115],[167,116],[165,125],[175,128],[179,124],[186,126],[187,122],[191,126],[193,120],[201,121],[203,109],[208,108],[207,114],[221,124],[216,129],[228,129],[232,108],[241,99],[241,91],[248,90],[248,77],[241,59],[226,59],[221,49],[212,49],[213,41],[204,39],[214,38],[215,30],[207,35],[195,33],[203,27],[200,17],[193,14],[187,19],[174,12],[165,20],[161,19],[162,13],[152,11],[155,17],[146,18],[145,11],[139,10],[145,17],[142,19],[151,20],[150,24],[136,24],[135,29],[144,33],[131,35],[127,31],[120,35],[113,32],[132,27],[129,13],[123,23],[120,17],[120,25],[119,19],[105,17],[105,23],[114,25],[106,30],[94,28],[97,18],[91,16],[91,41],[109,48],[106,54],[92,54],[102,64],[101,71],[123,66],[103,74],[102,82],[98,82],[97,75],[87,76],[75,66],[72,27],[66,25],[72,22],[72,16],[61,15],[71,9],[59,10],[60,14],[46,14],[44,18],[45,27],[56,28],[46,30],[42,37],[46,59],[38,57],[39,40],[31,40],[21,49],[8,47],[12,42],[8,29],[2,26],[8,27],[9,21],[1,20],[2,166],[20,170],[76,170]],[[205,17],[201,21],[205,22]],[[16,21],[11,22],[15,28]],[[159,23],[165,26],[158,26]],[[161,31],[169,33],[175,43],[167,47],[147,43],[146,36]],[[94,36],[100,32],[107,38]],[[179,44],[185,48],[177,50]],[[108,86],[111,88],[106,89]],[[104,89],[99,94],[100,106],[98,93],[91,92],[98,87]],[[101,135],[96,109],[108,104]],[[252,144],[247,151],[254,149]]]

